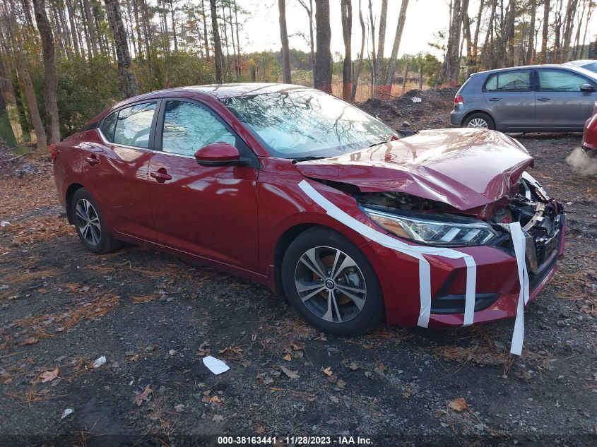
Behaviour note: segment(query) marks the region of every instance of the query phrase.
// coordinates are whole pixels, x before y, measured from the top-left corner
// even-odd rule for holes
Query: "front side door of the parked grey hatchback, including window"
[[[541,129],[581,131],[591,117],[596,92],[581,92],[583,84],[597,85],[566,68],[537,68],[536,126]]]

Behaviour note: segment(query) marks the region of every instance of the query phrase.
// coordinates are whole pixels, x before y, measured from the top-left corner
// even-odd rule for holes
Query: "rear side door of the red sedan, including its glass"
[[[148,167],[157,101],[140,102],[108,115],[100,126],[103,145],[88,150],[85,175],[109,225],[117,232],[155,242]]]

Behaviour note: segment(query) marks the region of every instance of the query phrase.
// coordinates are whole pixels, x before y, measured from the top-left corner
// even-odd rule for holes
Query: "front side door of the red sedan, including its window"
[[[208,107],[163,100],[149,165],[158,242],[248,270],[257,270],[256,180],[259,161]],[[201,166],[196,150],[222,141],[235,145],[244,166]]]

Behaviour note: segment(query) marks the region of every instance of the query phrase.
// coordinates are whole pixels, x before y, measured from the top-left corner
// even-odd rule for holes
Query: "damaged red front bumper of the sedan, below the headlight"
[[[526,263],[531,282],[530,299],[545,287],[557,271],[557,258],[563,255],[565,214],[559,203],[557,229],[552,237],[535,242],[527,238]],[[531,246],[532,244],[532,246]],[[416,326],[420,314],[418,260],[387,249],[376,242],[361,247],[372,261],[382,285],[388,323]],[[519,298],[519,277],[513,252],[495,246],[459,248],[473,256],[476,264],[474,323],[516,316]],[[534,251],[534,256],[531,256]],[[431,266],[432,308],[429,326],[461,326],[464,321],[466,264],[463,259],[427,256]],[[533,264],[533,258],[535,263]]]

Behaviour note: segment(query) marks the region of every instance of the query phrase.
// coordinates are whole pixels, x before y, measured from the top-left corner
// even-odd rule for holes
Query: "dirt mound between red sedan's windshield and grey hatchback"
[[[396,129],[447,127],[457,91],[458,88],[454,87],[413,89],[394,100],[370,98],[357,104],[357,107],[386,123],[393,124]],[[420,98],[420,102],[414,102],[413,97]]]

